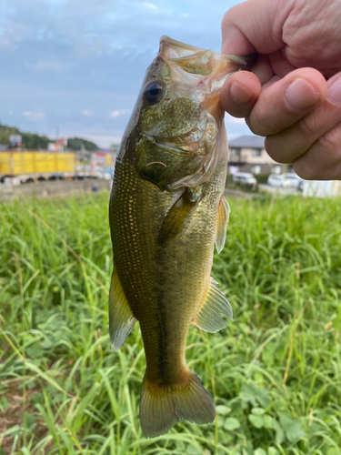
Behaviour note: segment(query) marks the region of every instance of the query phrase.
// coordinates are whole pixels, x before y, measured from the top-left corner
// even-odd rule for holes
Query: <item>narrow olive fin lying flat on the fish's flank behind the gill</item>
[[[185,190],[177,199],[176,203],[169,209],[165,220],[160,228],[158,243],[164,245],[176,238],[186,227],[190,217],[195,213],[201,198],[194,198],[192,194]]]

